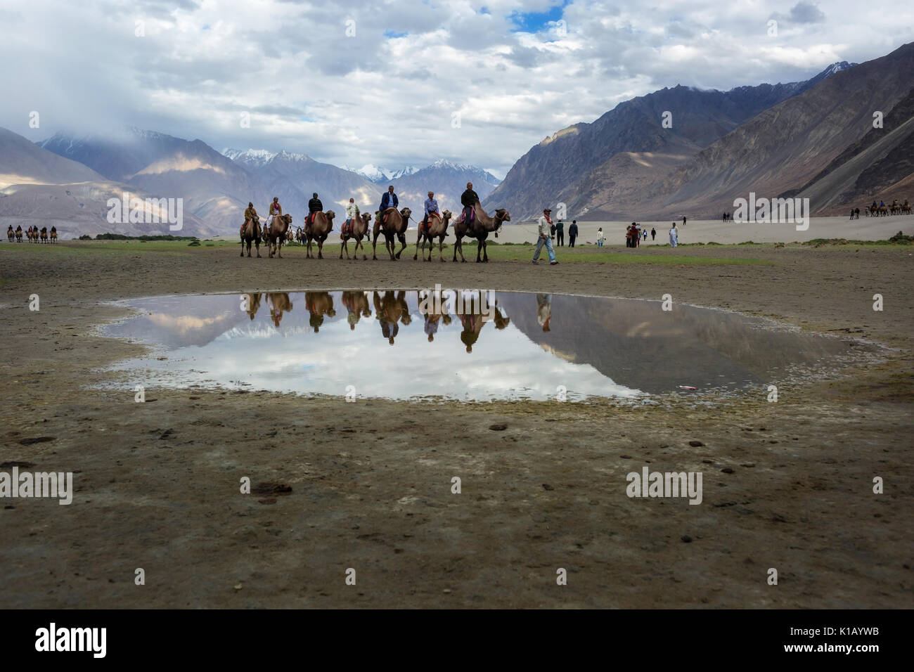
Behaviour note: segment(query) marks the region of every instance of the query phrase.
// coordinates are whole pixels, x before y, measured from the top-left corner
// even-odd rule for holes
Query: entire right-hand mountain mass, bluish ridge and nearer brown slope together
[[[749,192],[809,197],[818,215],[912,198],[912,86],[908,44],[789,84],[654,91],[532,147],[484,206],[515,221],[558,203],[568,219],[717,219]]]

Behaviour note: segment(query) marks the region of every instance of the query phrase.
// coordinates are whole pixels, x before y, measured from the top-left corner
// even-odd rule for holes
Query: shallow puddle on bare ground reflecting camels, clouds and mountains
[[[764,392],[874,349],[735,313],[567,294],[282,292],[122,304],[137,314],[103,332],[154,346],[114,367],[137,382],[350,399]]]

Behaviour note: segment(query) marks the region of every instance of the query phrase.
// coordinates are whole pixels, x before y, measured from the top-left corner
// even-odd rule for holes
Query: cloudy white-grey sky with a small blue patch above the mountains
[[[43,140],[134,125],[501,177],[632,96],[803,80],[912,26],[898,0],[4,0],[0,126]]]

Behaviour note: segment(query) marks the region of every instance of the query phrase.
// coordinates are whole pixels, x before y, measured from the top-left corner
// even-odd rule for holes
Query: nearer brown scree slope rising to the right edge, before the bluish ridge
[[[760,112],[699,152],[655,185],[654,200],[645,209],[664,219],[684,213],[702,217],[732,209],[734,198],[749,197],[749,192],[778,197],[802,187],[870,133],[873,112],[893,110],[908,95],[911,82],[914,43],[836,72],[802,94]],[[899,108],[899,116],[904,109]],[[896,123],[898,133],[881,147],[884,151],[861,152],[850,159],[864,158],[853,166],[858,175],[884,158],[893,144],[903,143],[909,126],[901,120]],[[891,129],[881,129],[881,134],[886,133]],[[840,175],[833,168],[834,187],[814,190],[813,185],[798,196],[810,196],[810,207],[819,214],[827,214],[836,199],[847,202],[863,197],[851,193],[856,181],[839,184],[836,178]]]

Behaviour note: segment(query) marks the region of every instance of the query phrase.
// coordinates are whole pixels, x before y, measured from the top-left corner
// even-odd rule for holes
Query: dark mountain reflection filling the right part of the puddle
[[[760,383],[778,369],[847,351],[834,338],[760,328],[743,315],[674,304],[553,294],[549,330],[537,294],[499,293],[512,324],[557,357],[590,364],[628,388],[657,394]]]

